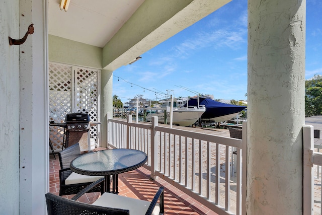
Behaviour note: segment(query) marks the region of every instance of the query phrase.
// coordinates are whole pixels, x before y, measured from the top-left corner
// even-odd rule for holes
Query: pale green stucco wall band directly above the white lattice
[[[102,48],[49,35],[49,61],[102,68]]]

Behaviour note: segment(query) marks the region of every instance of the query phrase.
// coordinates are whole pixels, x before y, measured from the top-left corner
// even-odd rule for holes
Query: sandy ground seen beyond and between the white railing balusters
[[[322,116],[314,116],[314,117],[308,117],[305,118],[305,124],[310,124],[314,126],[314,129],[320,129],[322,130]],[[184,130],[191,130],[193,131],[194,128],[182,128]],[[208,131],[204,131],[204,132],[208,132]],[[209,131],[211,133],[213,133],[214,131]],[[223,130],[221,129],[221,131],[217,131],[219,133],[217,133],[216,135],[222,135],[222,136],[229,136],[229,131],[228,130]],[[164,137],[166,139],[168,139],[168,137]],[[173,138],[173,137],[172,137]],[[178,137],[175,137],[178,138]],[[166,141],[168,142],[168,141]],[[177,139],[175,142],[180,142],[179,139]],[[196,165],[196,169],[194,170],[194,174],[192,174],[194,177],[189,177],[188,179],[185,178],[184,174],[180,174],[180,168],[186,168],[186,166],[188,166],[188,172],[191,173],[193,170],[191,168],[191,162],[192,159],[194,160],[195,164],[199,162],[199,143],[195,142],[194,144],[192,144],[191,139],[189,140],[188,143],[188,148],[186,149],[185,146],[182,146],[182,149],[179,150],[179,144],[175,144],[176,146],[173,145],[173,142],[171,144],[171,146],[167,145],[163,146],[162,149],[159,149],[158,153],[159,155],[162,154],[166,154],[166,156],[160,156],[162,158],[165,157],[165,160],[163,160],[161,163],[162,165],[160,166],[160,170],[161,172],[164,172],[166,175],[170,175],[171,178],[174,178],[176,181],[179,181],[182,184],[186,184],[187,187],[190,187],[192,190],[196,191],[196,192],[200,192],[202,195],[206,196],[207,195],[207,187],[206,185],[206,154],[207,154],[207,147],[206,144],[201,144],[201,154],[202,154],[202,176],[200,176],[199,174],[199,165]],[[193,147],[194,146],[194,147]],[[166,149],[165,149],[166,148]],[[169,148],[171,150],[169,150]],[[176,150],[174,150],[174,148],[176,148]],[[211,152],[210,154],[213,155],[211,156],[211,174],[210,174],[210,181],[211,181],[211,185],[210,185],[210,199],[212,201],[215,201],[215,180],[216,180],[216,157],[215,157],[215,151],[217,149],[217,146],[215,144],[210,146]],[[185,158],[180,158],[178,155],[178,152],[182,151],[185,152],[186,150],[188,150],[188,165],[186,165],[186,159]],[[229,149],[231,150],[231,149]],[[171,151],[171,153],[170,153]],[[174,156],[174,151],[176,151],[177,155],[175,155],[176,159],[174,159],[174,157],[169,157],[168,155]],[[184,153],[185,154],[185,153]],[[230,152],[229,152],[230,154]],[[230,159],[231,157],[229,157],[229,161],[225,162],[225,155],[226,155],[226,148],[224,146],[221,145],[220,149],[219,149],[219,168],[220,168],[220,191],[219,191],[219,205],[224,206],[225,205],[225,177],[226,177],[226,170],[225,170],[225,165],[229,164],[231,165]],[[171,160],[171,162],[169,162],[169,160]],[[181,160],[181,167],[179,167],[179,160]],[[169,166],[171,166],[171,168],[169,168]],[[320,213],[320,208],[321,208],[321,178],[322,178],[322,170],[321,168],[319,169],[319,172],[317,174],[317,166],[314,165],[314,214],[321,214]],[[169,170],[171,172],[169,172]],[[179,175],[182,175],[181,178],[179,178]],[[201,181],[202,185],[201,186],[201,190],[199,191],[198,189],[198,184],[199,181]],[[230,211],[235,212],[235,207],[236,207],[236,178],[235,177],[230,177],[229,180],[229,185],[230,185],[230,189],[229,189],[229,199],[230,199]]]

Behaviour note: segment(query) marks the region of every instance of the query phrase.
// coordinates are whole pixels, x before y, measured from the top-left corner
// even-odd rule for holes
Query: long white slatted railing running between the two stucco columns
[[[145,152],[151,178],[164,179],[218,214],[246,214],[246,123],[243,140],[160,126],[108,119],[108,145]],[[230,176],[231,149],[237,151],[236,175]],[[243,178],[246,184],[246,178]],[[243,210],[243,211],[242,211]]]

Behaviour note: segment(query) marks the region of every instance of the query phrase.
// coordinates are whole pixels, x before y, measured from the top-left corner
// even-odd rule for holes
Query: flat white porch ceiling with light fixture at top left
[[[49,0],[49,34],[104,47],[144,0],[71,0],[61,11],[60,0]]]

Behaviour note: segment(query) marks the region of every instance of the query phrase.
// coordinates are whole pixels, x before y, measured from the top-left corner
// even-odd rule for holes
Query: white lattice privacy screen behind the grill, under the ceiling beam
[[[49,63],[49,121],[63,122],[72,112],[87,113],[91,121],[98,121],[98,77],[99,70]],[[56,152],[62,149],[63,132],[61,127],[50,126]],[[98,126],[91,127],[90,133],[98,144]]]

